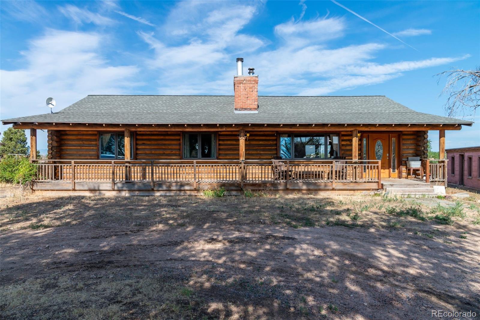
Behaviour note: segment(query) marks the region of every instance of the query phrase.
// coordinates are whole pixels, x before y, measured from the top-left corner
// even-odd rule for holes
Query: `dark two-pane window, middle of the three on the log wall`
[[[216,140],[213,133],[185,133],[183,157],[185,159],[215,159]]]

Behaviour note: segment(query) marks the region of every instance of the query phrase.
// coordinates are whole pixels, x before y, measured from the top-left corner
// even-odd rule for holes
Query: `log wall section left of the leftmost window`
[[[50,133],[49,148],[58,159],[98,159],[98,131],[58,130]]]

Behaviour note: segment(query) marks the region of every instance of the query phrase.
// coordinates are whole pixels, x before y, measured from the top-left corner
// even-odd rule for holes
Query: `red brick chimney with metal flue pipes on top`
[[[237,75],[233,77],[235,113],[258,113],[258,76],[253,68],[243,75],[243,58],[237,58]]]

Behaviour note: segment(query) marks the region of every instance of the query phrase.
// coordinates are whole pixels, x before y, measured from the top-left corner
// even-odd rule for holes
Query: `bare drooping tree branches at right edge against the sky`
[[[476,70],[455,69],[437,73],[437,83],[444,75],[447,82],[441,95],[448,95],[444,105],[448,117],[474,116],[480,106],[480,67]]]

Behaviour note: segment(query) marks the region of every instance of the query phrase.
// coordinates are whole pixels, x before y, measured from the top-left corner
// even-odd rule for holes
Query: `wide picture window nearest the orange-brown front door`
[[[284,159],[333,159],[340,154],[338,134],[281,134]]]

